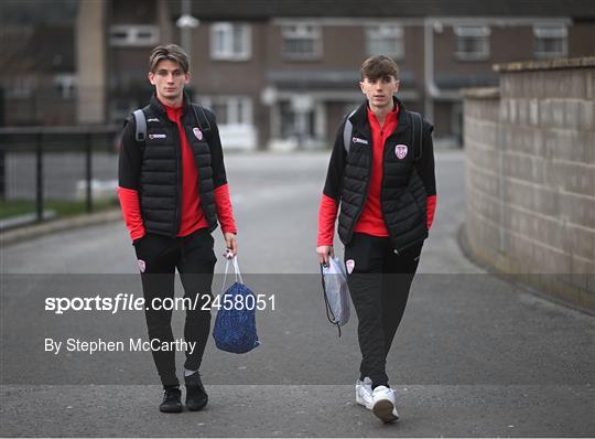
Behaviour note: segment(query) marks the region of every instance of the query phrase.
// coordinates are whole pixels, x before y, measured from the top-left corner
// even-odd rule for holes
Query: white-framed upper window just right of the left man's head
[[[251,52],[251,30],[248,24],[215,23],[210,26],[213,60],[245,61],[250,58]]]

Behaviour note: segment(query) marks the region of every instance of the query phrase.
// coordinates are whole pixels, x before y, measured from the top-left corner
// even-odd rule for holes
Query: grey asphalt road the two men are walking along
[[[277,295],[277,309],[259,314],[262,345],[232,355],[209,340],[202,366],[207,410],[162,415],[148,354],[43,352],[47,336],[144,334],[139,313],[43,311],[45,291],[66,291],[66,282],[74,291],[84,281],[95,286],[97,278],[85,274],[106,275],[105,286],[138,279],[123,224],[8,246],[0,255],[1,436],[595,436],[593,317],[463,256],[459,151],[437,154],[436,221],[388,358],[402,415],[392,426],[355,405],[355,317],[339,339],[324,315],[314,246],[327,154],[228,154],[226,163],[247,283]],[[223,267],[219,261],[217,272]],[[181,315],[174,319],[180,329]]]

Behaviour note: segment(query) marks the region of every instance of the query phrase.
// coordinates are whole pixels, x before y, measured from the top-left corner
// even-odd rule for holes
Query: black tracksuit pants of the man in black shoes
[[[184,340],[196,343],[192,354],[190,350],[186,351],[184,368],[190,371],[201,367],[210,331],[210,310],[202,308],[204,303],[210,303],[207,297],[212,298],[210,287],[217,260],[213,245],[213,236],[206,228],[176,238],[147,234],[134,242],[139,265],[144,266],[141,279],[149,339],[159,339],[161,343],[174,341],[172,310],[151,307],[151,301],[153,298],[174,297],[176,268],[184,287],[184,298],[190,298],[192,303],[195,303],[198,295],[196,308],[186,309],[184,324]],[[163,386],[177,386],[175,351],[152,351],[152,354]]]

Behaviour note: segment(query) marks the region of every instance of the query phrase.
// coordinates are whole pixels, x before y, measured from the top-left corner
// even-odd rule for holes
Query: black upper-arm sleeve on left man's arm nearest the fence
[[[126,118],[120,157],[118,160],[118,184],[120,188],[138,190],[142,160],[142,143],[136,139],[137,122],[132,115]]]

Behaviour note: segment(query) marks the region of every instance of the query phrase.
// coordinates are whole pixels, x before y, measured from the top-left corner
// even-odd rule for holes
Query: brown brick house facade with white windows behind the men
[[[216,113],[224,144],[321,148],[361,103],[361,62],[386,54],[399,64],[404,105],[458,144],[459,90],[496,85],[493,64],[595,53],[588,3],[82,1],[77,121],[119,122],[147,101],[149,51],[175,42],[191,53],[193,98]]]

